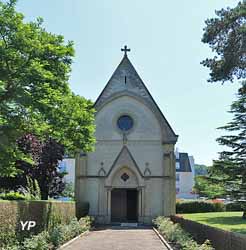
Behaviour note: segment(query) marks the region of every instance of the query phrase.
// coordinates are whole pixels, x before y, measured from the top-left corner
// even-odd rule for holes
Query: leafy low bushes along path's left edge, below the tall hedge
[[[1,250],[54,250],[74,237],[90,230],[93,219],[89,216],[82,217],[79,221],[73,218],[68,224],[58,224],[53,228],[43,231],[32,237],[25,238],[22,242],[13,240]]]

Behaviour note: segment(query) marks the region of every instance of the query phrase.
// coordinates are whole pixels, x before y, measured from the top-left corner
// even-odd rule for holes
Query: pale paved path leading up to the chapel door
[[[64,250],[167,250],[152,229],[106,228],[92,231]]]

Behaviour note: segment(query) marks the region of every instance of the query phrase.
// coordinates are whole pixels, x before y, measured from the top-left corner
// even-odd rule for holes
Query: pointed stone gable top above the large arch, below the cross
[[[170,142],[177,141],[178,136],[164,117],[159,106],[138,75],[127,55],[124,55],[120,64],[97,98],[94,104],[95,109],[99,110],[100,107],[107,103],[111,97],[116,96],[117,94],[133,95],[141,98],[141,100],[159,117],[161,124],[165,127]]]

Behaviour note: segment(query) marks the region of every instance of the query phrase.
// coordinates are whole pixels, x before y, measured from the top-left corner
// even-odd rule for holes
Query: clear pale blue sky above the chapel
[[[43,17],[47,31],[75,44],[70,86],[92,101],[122,59],[129,58],[179,135],[177,147],[198,164],[211,165],[223,150],[216,128],[231,119],[227,111],[239,83],[208,83],[200,62],[212,52],[201,42],[204,21],[235,0],[19,0],[25,20]]]

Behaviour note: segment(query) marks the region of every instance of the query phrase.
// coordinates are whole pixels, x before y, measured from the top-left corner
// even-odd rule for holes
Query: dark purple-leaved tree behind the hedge
[[[59,196],[64,188],[64,175],[60,172],[58,163],[63,159],[64,147],[52,138],[40,141],[32,134],[22,136],[18,142],[20,151],[31,156],[32,162],[16,161],[19,173],[14,177],[0,178],[0,187],[8,190],[29,188],[28,180],[37,181],[41,198]],[[28,177],[28,178],[27,178]]]

